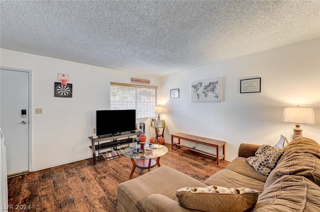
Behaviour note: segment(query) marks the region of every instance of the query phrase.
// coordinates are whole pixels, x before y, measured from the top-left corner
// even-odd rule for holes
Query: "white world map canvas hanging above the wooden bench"
[[[222,78],[203,79],[191,82],[191,102],[221,102]]]

